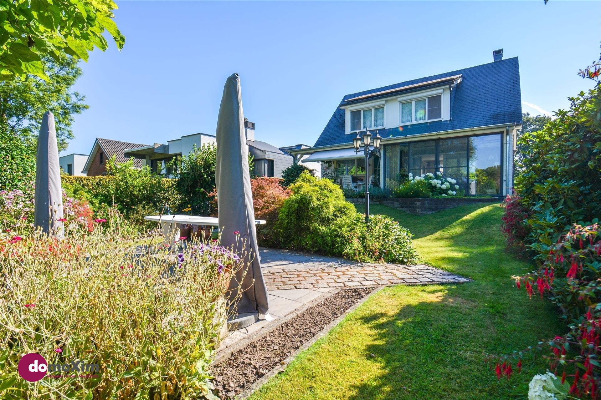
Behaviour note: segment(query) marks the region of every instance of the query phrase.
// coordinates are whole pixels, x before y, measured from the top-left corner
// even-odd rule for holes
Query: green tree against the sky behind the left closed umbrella
[[[61,56],[58,62],[47,57],[45,65],[48,81],[34,75],[25,80],[0,81],[0,131],[35,146],[44,112],[51,111],[61,151],[73,139],[73,115],[88,108],[84,96],[72,91],[82,71],[70,56]]]

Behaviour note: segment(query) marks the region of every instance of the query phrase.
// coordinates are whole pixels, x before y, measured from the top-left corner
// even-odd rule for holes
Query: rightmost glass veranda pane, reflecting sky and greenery
[[[470,195],[501,194],[501,135],[469,138]]]

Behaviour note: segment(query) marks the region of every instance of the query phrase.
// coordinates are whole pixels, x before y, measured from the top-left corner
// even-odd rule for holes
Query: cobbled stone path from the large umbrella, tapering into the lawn
[[[267,290],[460,283],[462,276],[428,265],[361,264],[346,259],[260,249]]]

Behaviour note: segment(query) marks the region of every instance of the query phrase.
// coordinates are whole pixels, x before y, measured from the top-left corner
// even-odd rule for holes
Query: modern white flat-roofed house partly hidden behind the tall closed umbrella
[[[245,118],[244,125],[248,151],[254,157],[255,174],[281,178],[282,170],[292,165],[293,157],[266,142],[255,141],[255,124]],[[162,165],[165,163],[164,173],[169,176],[172,173],[169,162],[174,158],[179,160],[182,156],[188,156],[194,150],[194,145],[201,147],[210,143],[215,143],[215,135],[194,133],[168,141],[167,144],[155,143],[150,146],[127,148],[124,154],[149,165],[154,172],[163,171]]]

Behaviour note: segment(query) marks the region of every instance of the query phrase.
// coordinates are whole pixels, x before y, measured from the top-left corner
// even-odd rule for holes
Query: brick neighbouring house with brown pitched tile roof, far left
[[[130,157],[124,156],[124,151],[130,148],[145,147],[147,145],[113,141],[111,139],[96,138],[90,156],[85,163],[83,172],[88,174],[88,177],[96,177],[98,175],[106,175],[106,162],[115,156],[117,163],[124,163]],[[142,168],[142,160],[133,160],[134,168]]]

